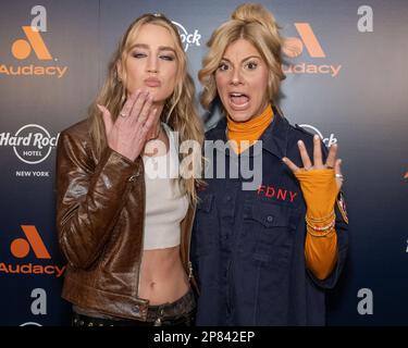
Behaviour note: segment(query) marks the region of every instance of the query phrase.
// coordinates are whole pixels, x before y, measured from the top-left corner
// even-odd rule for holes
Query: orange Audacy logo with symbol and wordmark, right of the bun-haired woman
[[[299,37],[287,37],[284,39],[282,51],[288,58],[297,58],[306,47],[312,59],[326,59],[322,45],[309,23],[295,23]],[[326,74],[336,77],[342,69],[341,64],[314,64],[314,63],[284,63],[283,71],[286,74]]]

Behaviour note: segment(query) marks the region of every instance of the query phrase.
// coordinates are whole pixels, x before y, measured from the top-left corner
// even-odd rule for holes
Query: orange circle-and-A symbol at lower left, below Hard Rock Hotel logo
[[[32,248],[37,259],[51,259],[36,226],[22,225],[22,229],[27,239],[14,239],[10,246],[11,253],[18,259],[23,259]]]

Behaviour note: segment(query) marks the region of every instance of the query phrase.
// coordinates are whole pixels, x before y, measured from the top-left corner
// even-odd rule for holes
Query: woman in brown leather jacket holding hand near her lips
[[[194,97],[177,29],[146,14],[124,34],[88,120],[62,132],[57,225],[74,325],[194,322],[196,179],[178,175],[172,132],[202,142]]]

